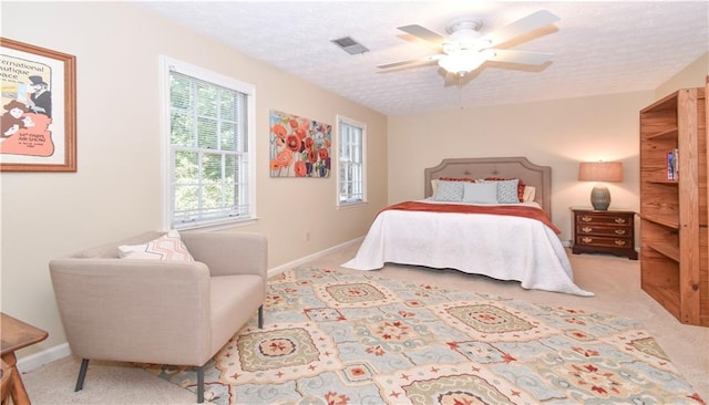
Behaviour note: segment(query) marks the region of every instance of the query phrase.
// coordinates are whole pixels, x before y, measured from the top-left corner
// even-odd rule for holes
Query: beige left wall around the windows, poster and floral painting
[[[271,268],[362,236],[387,201],[384,115],[135,4],[2,2],[1,27],[2,37],[76,56],[79,170],[2,173],[0,177],[2,311],[50,334],[21,355],[65,341],[48,272],[51,258],[161,227],[161,54],[256,86],[260,219],[233,230],[265,233]],[[327,179],[269,178],[271,108],[332,125],[337,114],[366,123],[370,204],[336,209],[332,175]]]

